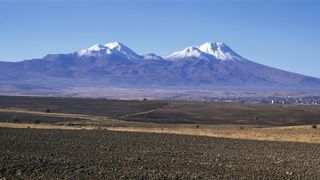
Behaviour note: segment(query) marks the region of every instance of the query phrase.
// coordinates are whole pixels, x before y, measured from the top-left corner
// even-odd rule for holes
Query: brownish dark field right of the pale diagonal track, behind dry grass
[[[320,106],[169,102],[165,108],[128,120],[156,123],[291,126],[320,123]]]

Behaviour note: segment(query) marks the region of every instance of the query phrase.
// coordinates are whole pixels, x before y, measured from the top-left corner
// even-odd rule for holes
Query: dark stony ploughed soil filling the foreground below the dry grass
[[[0,179],[319,179],[320,145],[0,129]]]

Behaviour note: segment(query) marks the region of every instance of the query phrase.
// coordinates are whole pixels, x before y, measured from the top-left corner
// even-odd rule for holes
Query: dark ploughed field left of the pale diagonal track
[[[0,108],[120,117],[167,105],[164,101],[106,100],[64,97],[0,96]]]

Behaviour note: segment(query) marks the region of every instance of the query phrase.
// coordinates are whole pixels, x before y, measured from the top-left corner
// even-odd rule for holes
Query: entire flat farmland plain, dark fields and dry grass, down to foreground
[[[318,179],[320,106],[0,97],[0,178]]]

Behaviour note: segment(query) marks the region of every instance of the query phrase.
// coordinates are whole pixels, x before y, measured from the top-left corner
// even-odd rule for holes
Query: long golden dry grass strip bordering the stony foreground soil
[[[267,141],[287,141],[305,142],[320,144],[320,130],[312,129],[311,126],[288,126],[273,128],[255,128],[246,126],[244,129],[239,126],[211,125],[207,127],[190,127],[190,125],[166,125],[166,127],[102,127],[96,125],[88,126],[64,126],[58,124],[17,124],[0,123],[2,128],[35,128],[35,129],[65,129],[65,130],[109,130],[126,132],[145,132],[180,134],[192,136],[223,137],[234,139],[267,140]]]

